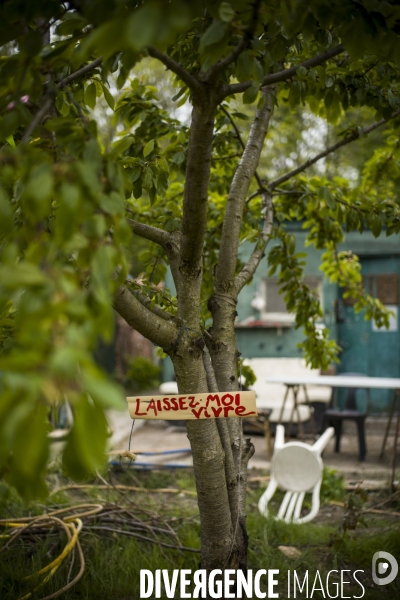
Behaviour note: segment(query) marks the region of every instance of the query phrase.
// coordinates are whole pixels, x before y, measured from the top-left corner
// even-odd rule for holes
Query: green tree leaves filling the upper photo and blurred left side
[[[197,319],[192,331],[213,325],[207,301],[215,292],[229,191],[249,139],[247,122],[265,106],[266,86],[276,114],[283,115],[275,131],[281,122],[283,132],[290,129],[292,146],[310,115],[328,123],[339,142],[314,162],[300,162],[298,153],[297,169],[283,175],[287,160],[260,165],[239,214],[239,243],[252,243],[259,262],[268,240],[279,242],[268,256],[271,273],[279,273],[313,366],[335,360],[338,348],[317,327],[321,308],[304,284],[303,257],[288,222],[301,222],[308,243],[324,251],[324,272],[346,287],[356,310],[388,323],[386,309],[362,289],[357,257],[340,253],[338,244],[345,231],[400,231],[399,23],[398,3],[380,0],[1,4],[1,477],[27,498],[45,493],[38,475],[48,456],[47,414],[66,398],[74,426],[65,468],[83,477],[99,466],[104,412],[124,400],[93,352],[99,338],[112,339],[112,307],[121,286],[141,306],[148,301],[152,315],[182,326],[182,294],[158,284],[168,264],[182,271],[174,266],[174,244],[192,197],[189,159],[201,137],[193,140],[191,127],[171,106],[192,102],[198,110],[207,96],[199,89],[219,96],[210,156],[197,165],[210,163],[211,170],[196,205],[208,203],[208,212],[201,240],[202,322]],[[176,94],[168,102],[142,76],[139,63],[149,57],[174,73],[169,89],[175,86]],[[291,111],[302,115],[297,129]],[[347,144],[363,144],[378,127],[384,133],[374,144],[367,140],[373,147],[355,180],[334,168],[306,171]],[[272,132],[268,157],[289,149],[283,137]],[[274,226],[265,234],[268,195]],[[152,229],[143,233],[144,225]],[[202,226],[196,222],[194,228]],[[160,231],[168,243],[160,243]],[[138,236],[146,239],[140,248]],[[235,265],[235,275],[244,268],[248,283],[251,269],[240,258]],[[149,320],[136,320],[146,335]],[[164,348],[182,340],[172,325],[171,331]]]

